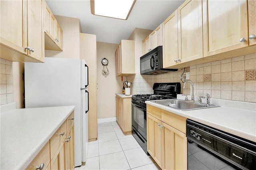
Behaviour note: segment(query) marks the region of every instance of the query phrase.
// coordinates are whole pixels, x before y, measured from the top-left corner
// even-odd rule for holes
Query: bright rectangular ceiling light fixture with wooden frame
[[[127,20],[136,0],[90,0],[93,15]]]

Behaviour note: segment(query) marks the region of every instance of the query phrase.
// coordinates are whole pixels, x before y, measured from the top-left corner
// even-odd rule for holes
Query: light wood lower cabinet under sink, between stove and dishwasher
[[[178,124],[172,125],[170,120],[176,119],[179,120]],[[147,149],[163,170],[187,169],[187,138],[184,126],[186,127],[186,118],[147,105]]]

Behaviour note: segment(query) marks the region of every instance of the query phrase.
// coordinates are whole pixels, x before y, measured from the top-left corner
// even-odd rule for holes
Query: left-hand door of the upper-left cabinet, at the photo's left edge
[[[27,54],[24,49],[26,47],[27,37],[23,36],[26,33],[26,16],[23,15],[23,6],[26,1],[0,1],[0,14],[1,14],[1,30],[0,30],[0,43],[15,51]],[[24,26],[23,26],[24,25]]]

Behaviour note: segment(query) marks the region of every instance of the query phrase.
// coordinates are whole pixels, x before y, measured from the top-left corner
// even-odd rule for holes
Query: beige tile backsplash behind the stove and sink
[[[196,96],[208,93],[216,99],[256,103],[256,53],[192,65],[185,72],[190,72]],[[137,73],[126,79],[133,82],[132,94],[150,94],[154,83],[181,82],[178,75],[182,73],[183,70],[160,75]],[[190,87],[187,83],[182,93],[191,94]]]

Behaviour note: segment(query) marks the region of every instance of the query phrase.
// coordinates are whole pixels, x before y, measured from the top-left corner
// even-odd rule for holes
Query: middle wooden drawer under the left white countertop
[[[64,132],[64,134],[63,134]],[[54,135],[50,139],[50,153],[51,153],[51,160],[53,155],[55,154],[56,150],[60,146],[62,140],[66,136],[67,133],[67,123],[64,121],[64,123],[58,128],[58,130],[54,133]],[[61,135],[63,134],[63,135]]]

